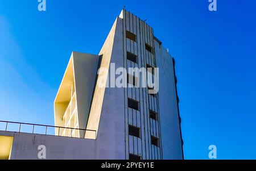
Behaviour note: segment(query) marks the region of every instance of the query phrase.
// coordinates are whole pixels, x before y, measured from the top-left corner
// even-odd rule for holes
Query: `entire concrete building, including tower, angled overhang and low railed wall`
[[[109,80],[119,78],[110,76],[113,65],[152,68],[147,79],[159,84],[138,86],[143,77],[128,72],[123,85],[135,86],[112,87]],[[108,72],[97,74],[100,68]],[[98,55],[72,52],[54,112],[55,127],[31,124],[29,133],[20,131],[24,123],[3,122],[0,159],[39,159],[40,145],[46,159],[183,159],[174,59],[152,27],[129,11],[115,19]],[[8,131],[8,124],[19,130]],[[35,134],[35,127],[46,128],[46,134]]]

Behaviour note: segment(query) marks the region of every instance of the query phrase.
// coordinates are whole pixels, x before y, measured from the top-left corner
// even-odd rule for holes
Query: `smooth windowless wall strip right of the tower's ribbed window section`
[[[155,41],[155,56],[159,67],[159,112],[163,159],[183,159],[172,57],[157,41]]]

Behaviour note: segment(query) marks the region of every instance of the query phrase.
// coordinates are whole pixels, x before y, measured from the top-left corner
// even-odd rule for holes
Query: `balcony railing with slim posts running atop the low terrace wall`
[[[79,128],[57,127],[57,126],[48,126],[44,124],[31,124],[31,123],[9,122],[9,121],[0,120],[0,131],[63,136],[61,135],[61,130],[62,131],[69,130],[70,135],[65,135],[65,137],[85,139],[86,133],[90,133],[90,135],[93,133],[95,134],[94,139],[96,139],[96,130],[85,130],[85,129],[79,129]],[[80,136],[73,136],[72,134],[73,131],[79,131]]]

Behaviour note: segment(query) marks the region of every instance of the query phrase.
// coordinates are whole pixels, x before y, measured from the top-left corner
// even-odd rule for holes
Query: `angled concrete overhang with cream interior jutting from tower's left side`
[[[54,102],[55,126],[86,128],[98,62],[98,55],[72,52]],[[56,128],[55,134],[83,137],[85,132]]]

